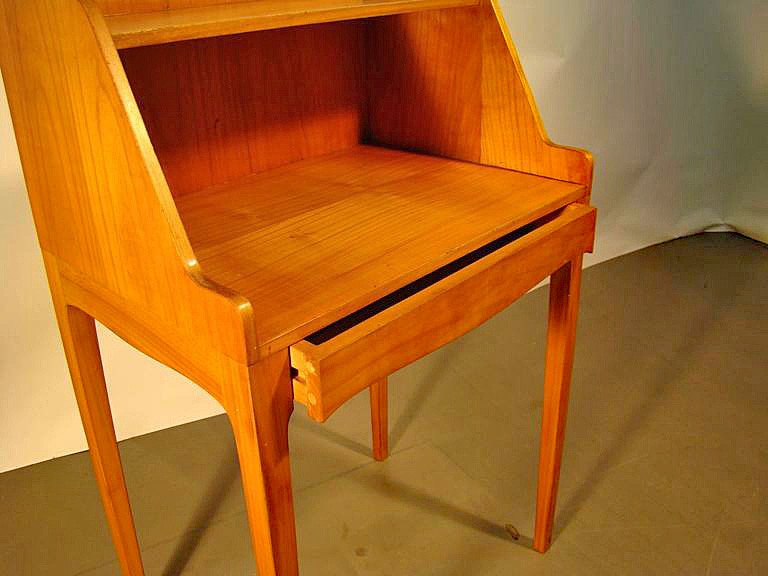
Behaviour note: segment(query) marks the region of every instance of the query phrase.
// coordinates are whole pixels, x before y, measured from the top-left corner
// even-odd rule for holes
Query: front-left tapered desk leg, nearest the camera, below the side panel
[[[288,458],[293,412],[288,352],[243,367],[228,392],[248,522],[259,576],[297,576],[296,525]]]

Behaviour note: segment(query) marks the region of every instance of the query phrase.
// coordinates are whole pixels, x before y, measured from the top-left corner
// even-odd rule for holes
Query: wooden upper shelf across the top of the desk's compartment
[[[118,48],[131,48],[478,3],[479,0],[258,0],[108,16],[107,25]]]

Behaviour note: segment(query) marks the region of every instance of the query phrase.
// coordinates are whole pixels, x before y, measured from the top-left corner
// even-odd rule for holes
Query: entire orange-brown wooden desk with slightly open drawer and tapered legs
[[[552,534],[592,160],[543,131],[491,0],[0,0],[0,65],[124,574],[143,574],[94,319],[224,407],[259,574],[298,573],[288,421],[551,275]]]

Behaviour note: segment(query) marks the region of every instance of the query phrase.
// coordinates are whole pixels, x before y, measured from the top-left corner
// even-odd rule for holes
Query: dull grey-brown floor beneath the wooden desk
[[[291,423],[302,574],[768,574],[768,249],[731,234],[588,269],[555,541],[530,549],[546,288]],[[254,574],[224,417],[121,444],[148,574]],[[513,524],[523,534],[512,541]],[[86,454],[0,475],[0,573],[118,574]]]

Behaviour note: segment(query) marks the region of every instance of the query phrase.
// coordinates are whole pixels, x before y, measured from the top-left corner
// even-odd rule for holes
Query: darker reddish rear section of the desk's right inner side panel
[[[368,139],[479,161],[480,32],[477,8],[371,20]]]

